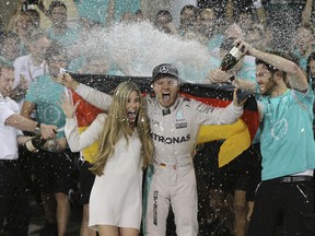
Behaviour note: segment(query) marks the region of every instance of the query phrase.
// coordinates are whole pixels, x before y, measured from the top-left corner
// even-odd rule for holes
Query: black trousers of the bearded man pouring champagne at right
[[[256,192],[248,236],[273,236],[277,215],[282,212],[288,236],[314,236],[314,190],[312,181],[262,181]]]

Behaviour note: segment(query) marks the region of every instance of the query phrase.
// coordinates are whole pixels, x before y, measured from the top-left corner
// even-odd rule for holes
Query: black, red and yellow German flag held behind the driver
[[[153,93],[151,88],[151,78],[95,74],[71,74],[71,76],[80,83],[107,94],[126,80],[138,84],[143,95]],[[192,84],[184,82],[180,85],[179,93],[185,97],[200,101],[213,107],[226,107],[233,101],[233,91],[234,86],[229,84]],[[102,110],[83,101],[78,94],[72,94],[74,103],[81,101],[77,110],[77,118],[79,129],[84,130]],[[258,129],[258,125],[257,103],[254,96],[249,96],[244,105],[244,114],[237,122],[224,126],[201,126],[197,144],[214,140],[224,140],[219,153],[219,167],[222,167],[249,148]],[[97,149],[94,146],[93,151],[85,151],[84,157],[91,160],[96,152]]]

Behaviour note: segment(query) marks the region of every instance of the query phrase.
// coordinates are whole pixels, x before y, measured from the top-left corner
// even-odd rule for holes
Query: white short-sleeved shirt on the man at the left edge
[[[0,160],[18,160],[18,135],[22,131],[11,126],[5,126],[5,120],[13,114],[19,114],[19,105],[9,97],[0,94]]]

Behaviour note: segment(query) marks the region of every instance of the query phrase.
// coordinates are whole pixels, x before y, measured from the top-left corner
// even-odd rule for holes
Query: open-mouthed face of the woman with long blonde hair
[[[140,107],[140,96],[137,91],[131,91],[126,102],[126,113],[129,125],[136,125]]]

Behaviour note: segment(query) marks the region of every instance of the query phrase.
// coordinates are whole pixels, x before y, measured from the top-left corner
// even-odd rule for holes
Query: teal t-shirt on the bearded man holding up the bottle
[[[315,168],[313,139],[314,94],[288,90],[278,97],[261,97],[261,179],[302,173]]]

